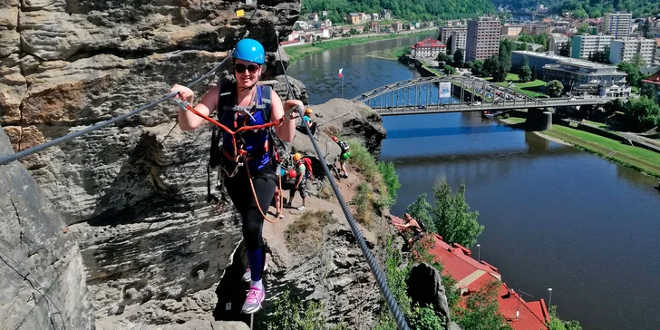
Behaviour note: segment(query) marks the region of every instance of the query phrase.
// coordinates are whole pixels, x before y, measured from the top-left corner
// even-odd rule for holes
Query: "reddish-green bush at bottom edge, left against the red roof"
[[[466,330],[512,330],[499,311],[499,288],[500,282],[493,280],[467,296],[465,306],[457,306],[451,311],[452,319]]]

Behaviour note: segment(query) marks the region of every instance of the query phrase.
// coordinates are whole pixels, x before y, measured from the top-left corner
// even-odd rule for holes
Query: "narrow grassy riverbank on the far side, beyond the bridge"
[[[366,43],[373,43],[381,40],[388,40],[388,39],[396,39],[396,38],[401,38],[404,36],[411,36],[411,35],[416,35],[416,34],[429,34],[432,33],[432,31],[437,30],[437,29],[427,29],[427,30],[422,30],[422,31],[415,31],[415,32],[402,32],[399,34],[372,34],[368,36],[354,36],[354,37],[343,37],[343,38],[335,38],[329,41],[323,41],[323,42],[318,42],[318,43],[311,43],[311,44],[303,44],[300,46],[291,46],[291,47],[286,47],[284,48],[286,54],[289,55],[290,58],[290,63],[289,65],[293,65],[296,63],[298,60],[300,60],[303,57],[309,56],[314,53],[323,53],[325,51],[329,51],[331,49],[335,48],[341,48],[345,46],[350,46],[353,44],[366,44]]]

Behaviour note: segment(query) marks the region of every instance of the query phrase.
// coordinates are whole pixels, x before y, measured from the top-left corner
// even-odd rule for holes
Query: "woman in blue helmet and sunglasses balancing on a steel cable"
[[[283,105],[276,92],[267,86],[257,86],[265,70],[266,58],[264,47],[259,42],[253,39],[239,41],[232,57],[236,83],[222,83],[221,87],[211,88],[202,96],[195,110],[207,116],[218,112],[218,121],[236,131],[243,126],[278,121],[292,107],[303,106],[302,102],[296,100],[286,101]],[[180,92],[188,102],[193,100],[194,94],[189,88],[177,84],[171,91]],[[192,112],[179,111],[179,126],[183,131],[194,130],[202,121],[201,117]],[[296,134],[296,121],[286,118],[286,121],[274,128],[279,139],[289,142]],[[249,130],[236,136],[228,132],[222,134],[220,153],[223,156],[220,157],[221,166],[225,169],[223,179],[229,198],[242,218],[243,238],[248,250],[249,268],[246,275],[249,273],[251,282],[242,308],[246,314],[257,312],[266,297],[261,281],[266,264],[262,238],[263,213],[266,213],[273,200],[277,185],[269,134],[270,130]],[[239,156],[237,150],[244,152]],[[239,162],[243,162],[243,166],[238,166]]]

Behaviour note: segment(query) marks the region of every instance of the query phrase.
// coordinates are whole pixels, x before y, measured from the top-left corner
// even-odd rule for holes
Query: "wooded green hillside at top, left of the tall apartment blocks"
[[[333,22],[347,13],[380,13],[389,9],[393,16],[411,21],[436,21],[475,17],[494,13],[490,0],[305,0],[303,13],[328,12]]]

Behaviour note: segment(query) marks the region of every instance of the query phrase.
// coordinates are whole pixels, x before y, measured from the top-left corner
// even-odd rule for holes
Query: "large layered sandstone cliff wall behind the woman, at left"
[[[0,0],[0,124],[15,150],[79,131],[207,73],[246,34],[267,49],[263,79],[277,81],[288,57],[277,53],[275,31],[286,35],[299,7],[297,0],[257,7],[220,0]],[[238,9],[245,16],[237,17]],[[227,76],[228,66],[200,82],[196,101]],[[24,159],[71,225],[67,236],[80,242],[91,296],[67,301],[91,300],[99,329],[212,320],[214,289],[238,247],[240,226],[232,208],[218,212],[203,201],[209,126],[170,131],[176,115],[173,103],[163,103]]]

